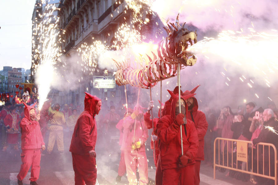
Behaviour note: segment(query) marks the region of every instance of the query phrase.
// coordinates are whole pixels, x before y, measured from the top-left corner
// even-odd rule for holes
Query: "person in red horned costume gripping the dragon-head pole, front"
[[[157,123],[160,140],[160,162],[163,171],[162,184],[192,185],[196,183],[195,158],[198,152],[198,135],[194,123],[185,122],[187,104],[185,100],[195,94],[181,96],[179,113],[179,96],[169,91],[173,98],[170,115],[163,116]],[[180,125],[182,129],[180,130]],[[181,152],[181,135],[183,136],[183,155]]]

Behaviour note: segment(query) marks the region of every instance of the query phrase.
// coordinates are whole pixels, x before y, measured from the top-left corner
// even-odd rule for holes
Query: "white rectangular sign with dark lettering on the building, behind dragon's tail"
[[[115,76],[93,76],[94,88],[116,88]]]

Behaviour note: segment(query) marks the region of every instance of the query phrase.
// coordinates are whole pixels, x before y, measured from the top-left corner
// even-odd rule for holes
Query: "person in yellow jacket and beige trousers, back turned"
[[[64,113],[59,111],[60,105],[54,105],[54,110],[49,107],[48,112],[52,119],[49,121],[48,130],[48,146],[47,153],[51,154],[55,140],[57,141],[57,148],[60,153],[64,153],[64,134],[63,126],[66,126]]]

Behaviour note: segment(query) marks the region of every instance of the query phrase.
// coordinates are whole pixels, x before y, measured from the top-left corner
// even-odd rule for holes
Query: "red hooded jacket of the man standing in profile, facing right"
[[[70,152],[85,155],[89,154],[89,151],[95,150],[97,139],[95,108],[99,101],[98,97],[86,93],[84,99],[85,108],[76,121],[70,144]]]

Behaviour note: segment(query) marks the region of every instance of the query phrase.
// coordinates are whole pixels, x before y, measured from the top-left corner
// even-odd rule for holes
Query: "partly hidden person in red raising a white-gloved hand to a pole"
[[[152,130],[152,139],[151,139],[151,149],[154,150],[155,145],[155,151],[154,151],[154,165],[157,167],[157,159],[159,155],[159,148],[158,148],[158,137],[157,137],[157,127],[156,124],[159,120],[159,118],[150,119],[150,110],[154,107],[154,101],[149,102],[148,110],[146,113],[144,113],[144,121],[145,126],[147,129],[153,129]],[[158,111],[158,117],[159,117],[160,111]],[[154,128],[153,128],[153,122],[154,122]]]

